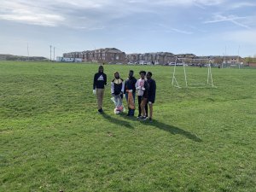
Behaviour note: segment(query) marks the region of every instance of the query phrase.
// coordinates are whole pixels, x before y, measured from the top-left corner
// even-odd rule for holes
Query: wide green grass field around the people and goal
[[[96,113],[97,68],[0,62],[0,191],[256,191],[256,69],[212,68],[215,88],[177,89],[173,67],[106,65],[108,83],[153,73],[148,123],[114,115],[109,86]],[[207,83],[207,68],[186,69]]]

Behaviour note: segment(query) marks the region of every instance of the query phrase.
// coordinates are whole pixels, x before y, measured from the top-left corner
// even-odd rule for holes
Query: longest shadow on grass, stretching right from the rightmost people
[[[142,122],[142,123],[146,123],[146,122]],[[147,124],[149,124],[149,123],[147,123]],[[152,125],[160,130],[168,131],[168,132],[172,133],[173,135],[179,134],[179,135],[182,135],[183,137],[187,137],[195,142],[202,142],[201,138],[196,137],[195,134],[190,133],[189,131],[184,131],[183,129],[178,128],[176,126],[167,125],[158,120],[154,120],[153,123],[150,123],[149,125]]]

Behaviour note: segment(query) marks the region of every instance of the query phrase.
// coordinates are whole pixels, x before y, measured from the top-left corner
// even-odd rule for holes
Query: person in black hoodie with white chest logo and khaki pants
[[[107,84],[107,75],[104,72],[103,66],[99,67],[98,73],[94,75],[93,94],[97,97],[98,113],[103,113],[102,102],[104,97],[104,88]]]

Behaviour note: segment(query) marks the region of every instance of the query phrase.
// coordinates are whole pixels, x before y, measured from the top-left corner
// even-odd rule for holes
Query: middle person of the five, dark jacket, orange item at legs
[[[129,75],[128,75],[128,79],[126,79],[126,81],[125,81],[125,98],[126,98],[126,101],[128,102],[129,93],[132,93],[132,96],[133,96],[133,102],[132,103],[128,102],[128,109],[129,110],[128,110],[127,116],[134,116],[134,112],[135,112],[135,93],[136,93],[135,84],[137,83],[137,79],[135,79],[133,77],[133,73],[134,72],[132,70],[130,70]]]

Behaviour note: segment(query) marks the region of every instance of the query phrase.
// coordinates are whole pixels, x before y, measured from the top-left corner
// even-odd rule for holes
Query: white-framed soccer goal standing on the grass
[[[212,79],[212,61],[209,60],[207,64],[199,67],[188,67],[184,62],[175,65],[172,72],[172,85],[177,88],[207,88],[214,87]],[[181,69],[182,67],[182,69]],[[189,73],[189,69],[194,68]],[[198,69],[195,72],[195,69]],[[206,70],[207,69],[207,70]],[[199,71],[200,70],[200,71]],[[178,72],[177,72],[178,71]],[[178,83],[180,82],[180,84]]]

